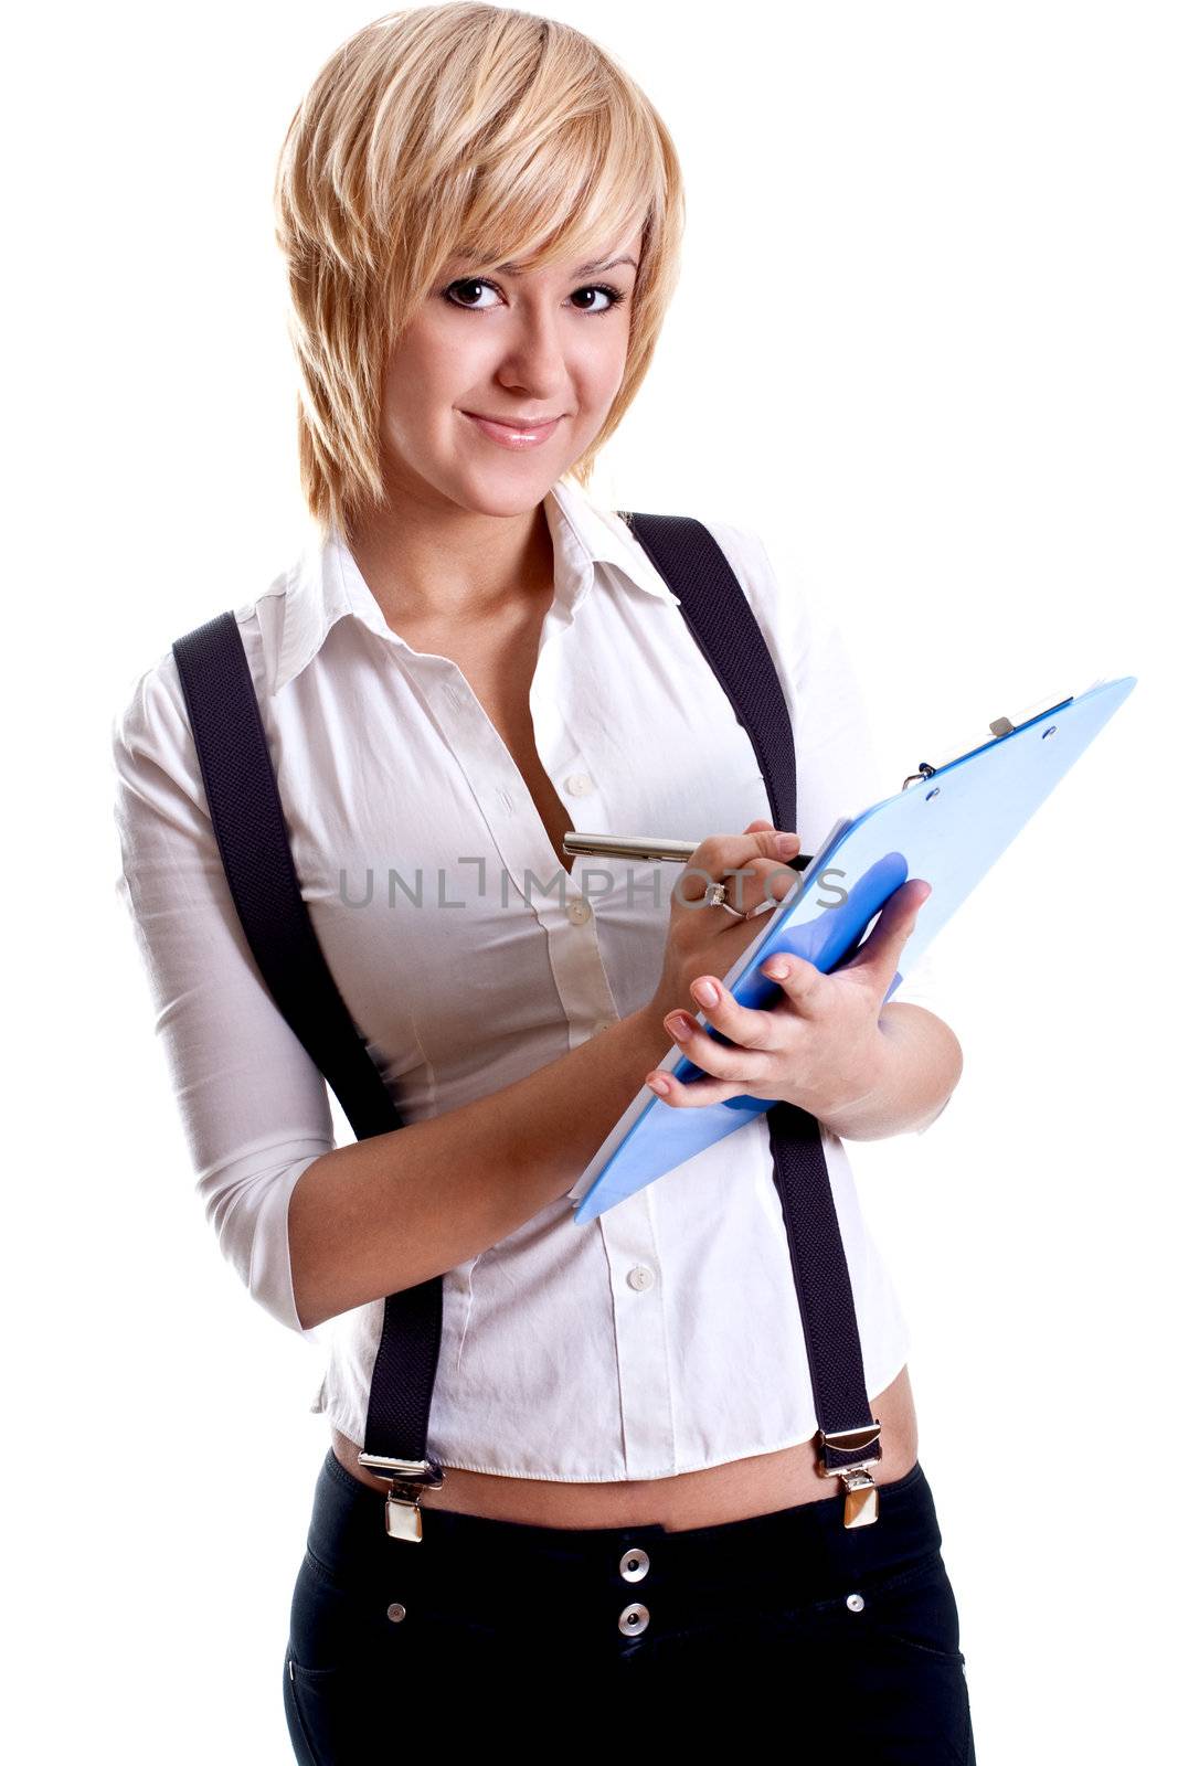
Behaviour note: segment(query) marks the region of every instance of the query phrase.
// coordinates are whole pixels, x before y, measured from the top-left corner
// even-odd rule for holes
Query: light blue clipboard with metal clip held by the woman
[[[915,968],[1136,683],[1136,675],[1123,675],[1079,696],[1046,701],[1046,710],[1019,722],[996,719],[989,742],[938,766],[922,761],[895,796],[835,823],[800,887],[779,908],[765,909],[765,931],[724,975],[728,991],[740,1005],[759,1010],[777,1001],[781,987],[759,973],[777,952],[793,952],[830,973],[855,954],[888,895],[910,876],[933,885],[904,945],[904,962]],[[901,980],[897,973],[885,1003]],[[696,1021],[703,1024],[705,1014],[698,1012]],[[729,1044],[714,1026],[705,1028]],[[683,1083],[703,1075],[675,1045],[659,1068]],[[595,1220],[772,1102],[745,1095],[706,1109],[675,1109],[643,1086],[569,1190],[572,1219]]]

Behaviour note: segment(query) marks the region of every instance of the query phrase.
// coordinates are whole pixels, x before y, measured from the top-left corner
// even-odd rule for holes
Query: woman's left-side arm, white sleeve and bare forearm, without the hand
[[[572,1187],[666,1054],[657,1017],[634,1014],[498,1093],[336,1148],[323,1075],[237,917],[170,655],[140,676],[111,751],[117,894],[198,1196],[251,1298],[311,1332],[473,1257]]]

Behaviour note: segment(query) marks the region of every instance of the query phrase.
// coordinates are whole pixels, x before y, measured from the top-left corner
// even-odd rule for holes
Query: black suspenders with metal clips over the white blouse
[[[682,606],[687,627],[752,743],[775,828],[793,828],[797,772],[786,698],[756,616],[717,540],[691,516],[623,519]],[[214,834],[242,929],[274,1003],[339,1100],[357,1141],[401,1128],[396,1104],[332,980],[298,888],[249,660],[231,611],[173,643]],[[880,1513],[851,1279],[814,1116],[774,1104],[765,1120],[789,1241],[818,1432],[816,1468],[844,1487],[842,1522]],[[429,1452],[443,1277],[385,1300],[360,1462],[389,1483],[385,1526],[420,1540],[419,1494],[445,1469]]]

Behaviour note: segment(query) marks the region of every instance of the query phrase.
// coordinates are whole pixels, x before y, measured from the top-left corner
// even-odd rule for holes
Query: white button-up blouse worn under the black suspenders
[[[530,706],[572,823],[701,841],[770,818],[749,738],[625,523],[574,480],[544,514],[555,599]],[[814,853],[841,814],[895,784],[837,627],[777,585],[754,533],[706,526],[782,678],[797,832]],[[466,676],[389,627],[343,535],[311,540],[235,615],[304,901],[406,1123],[512,1084],[652,998],[678,869],[634,867],[627,888],[629,865],[578,858],[567,876]],[[336,1146],[332,1109],[238,924],[171,648],[134,682],[111,740],[115,888],[198,1196],[254,1300],[293,1332],[328,1333],[311,1409],[362,1441],[383,1300],[313,1332],[295,1309],[286,1211]],[[894,998],[936,1010],[931,973],[925,955]],[[874,1397],[906,1362],[906,1321],[842,1141],[823,1130],[823,1148]],[[445,1466],[669,1478],[818,1429],[765,1116],[586,1226],[556,1199],[449,1270],[443,1294],[429,1446]]]

